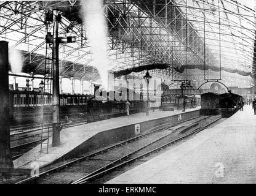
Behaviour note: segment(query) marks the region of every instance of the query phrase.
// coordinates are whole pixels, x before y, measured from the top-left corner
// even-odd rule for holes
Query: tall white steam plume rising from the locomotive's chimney
[[[98,69],[103,88],[108,90],[107,29],[102,0],[82,1],[82,13],[94,66]]]

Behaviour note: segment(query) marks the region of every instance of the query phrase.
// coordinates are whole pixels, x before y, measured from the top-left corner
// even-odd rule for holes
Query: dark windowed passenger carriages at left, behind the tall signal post
[[[89,95],[61,94],[60,118],[78,117],[87,110]],[[12,125],[50,121],[52,116],[52,94],[37,91],[9,91],[10,121]]]

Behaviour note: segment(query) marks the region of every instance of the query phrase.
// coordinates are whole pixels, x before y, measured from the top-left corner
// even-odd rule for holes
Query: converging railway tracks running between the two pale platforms
[[[93,168],[92,171],[90,171],[91,169],[89,167],[80,166],[79,167],[80,169],[81,168],[89,169],[86,172],[85,171],[81,172],[81,173],[87,173],[87,175],[84,175],[81,178],[76,178],[76,180],[73,179],[72,181],[66,182],[66,183],[72,182],[73,184],[87,183],[88,181],[91,181],[92,179],[95,179],[98,176],[105,175],[110,171],[116,170],[116,168],[123,167],[124,165],[129,164],[134,160],[140,159],[140,157],[144,157],[147,154],[151,154],[155,151],[165,148],[166,146],[171,145],[172,143],[182,140],[182,138],[196,134],[199,131],[206,129],[206,127],[210,126],[210,124],[215,123],[218,119],[220,119],[220,118],[217,118],[217,119],[215,118],[214,120],[211,119],[210,123],[208,124],[202,123],[205,119],[209,119],[209,118],[212,118],[212,117],[199,116],[199,117],[187,119],[186,121],[180,121],[179,123],[175,123],[175,124],[170,124],[170,123],[159,124],[158,126],[153,127],[153,129],[151,129],[150,132],[147,132],[142,135],[138,135],[137,137],[134,137],[134,138],[130,138],[129,140],[121,141],[120,143],[116,143],[115,145],[108,146],[107,148],[101,149],[92,154],[80,156],[74,160],[71,160],[70,162],[67,162],[65,164],[59,165],[58,167],[54,167],[50,170],[40,173],[39,178],[36,176],[30,177],[22,181],[19,181],[18,184],[35,183],[38,181],[44,182],[44,179],[42,179],[44,177],[49,178],[49,176],[54,176],[55,173],[58,173],[62,170],[66,170],[66,168],[72,170],[72,167],[76,167],[75,165],[79,163],[84,164],[84,162],[88,162],[88,163],[97,162],[97,161],[102,162],[102,160],[104,159],[100,159],[100,157],[98,156],[102,156],[103,154],[110,155],[109,159],[107,159],[107,161],[103,161],[100,167],[98,167],[98,164],[96,164],[97,168]],[[176,129],[170,129],[172,127],[175,127]],[[134,142],[134,141],[139,141],[139,142]],[[112,160],[113,157],[111,157],[111,154],[112,156],[113,154],[116,154],[116,153],[113,153],[113,151],[117,151],[118,149],[119,149],[120,156],[117,159],[116,157],[114,157],[114,160]],[[126,151],[129,153],[125,154]],[[143,151],[146,151],[146,152],[143,152]],[[93,166],[93,165],[95,165],[95,163],[91,164],[90,166]],[[65,171],[63,172],[65,173]]]

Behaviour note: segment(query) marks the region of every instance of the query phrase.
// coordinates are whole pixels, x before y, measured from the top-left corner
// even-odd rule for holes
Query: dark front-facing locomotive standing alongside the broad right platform
[[[228,118],[239,110],[239,100],[242,100],[242,96],[238,94],[231,92],[220,94],[219,106],[223,118]]]

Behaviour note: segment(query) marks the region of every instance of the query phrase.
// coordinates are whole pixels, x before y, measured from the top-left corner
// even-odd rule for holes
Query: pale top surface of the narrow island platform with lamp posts
[[[186,109],[188,111],[199,110],[201,107]],[[164,118],[166,116],[173,116],[182,111],[150,111],[150,115],[146,116],[145,113],[136,113],[130,116],[121,116],[118,118],[106,119],[103,121],[98,121],[89,124],[83,124],[76,127],[70,127],[63,129],[60,132],[61,145],[58,147],[52,147],[52,137],[49,138],[49,153],[46,151],[40,153],[41,145],[36,146],[35,148],[25,153],[23,156],[14,160],[14,168],[20,169],[31,169],[35,164],[38,164],[39,167],[44,167],[51,164],[54,160],[62,157],[63,155],[69,153],[71,150],[81,145],[89,138],[103,132],[105,130],[116,129],[118,127],[128,126],[130,124],[142,123],[152,119]],[[44,143],[46,143],[45,141]],[[46,145],[43,145],[46,148]],[[33,163],[33,165],[32,165]]]

